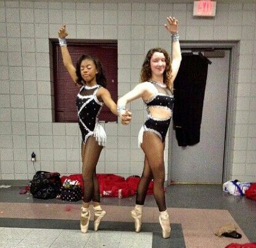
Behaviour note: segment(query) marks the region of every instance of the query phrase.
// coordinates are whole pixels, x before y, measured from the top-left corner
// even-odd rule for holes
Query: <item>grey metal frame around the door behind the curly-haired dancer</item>
[[[234,147],[234,134],[235,134],[235,92],[236,92],[236,69],[238,58],[238,41],[233,42],[190,42],[181,41],[181,50],[196,50],[196,52],[203,52],[204,50],[209,50],[211,48],[220,50],[230,50],[230,64],[229,64],[229,74],[228,74],[228,99],[227,99],[227,117],[225,125],[225,144],[224,144],[224,155],[223,155],[223,171],[222,171],[222,183],[230,180],[232,161],[233,161],[233,147]],[[170,130],[172,130],[172,126]],[[173,137],[173,131],[169,131],[169,142],[168,142],[168,184],[171,184],[171,172],[172,172],[172,160],[171,160],[171,142]]]

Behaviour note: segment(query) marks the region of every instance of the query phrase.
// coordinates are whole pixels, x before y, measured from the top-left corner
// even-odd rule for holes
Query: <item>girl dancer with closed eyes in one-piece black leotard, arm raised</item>
[[[79,118],[80,131],[82,133],[82,162],[83,162],[83,183],[84,195],[81,213],[80,228],[83,233],[88,230],[90,211],[90,201],[93,201],[94,230],[97,231],[99,223],[103,219],[106,211],[101,209],[99,204],[99,183],[96,177],[96,165],[99,155],[106,144],[106,133],[98,123],[98,114],[103,104],[106,104],[111,112],[117,113],[117,105],[111,98],[111,94],[105,88],[106,77],[100,61],[90,55],[82,55],[77,62],[76,68],[72,64],[66,45],[66,27],[62,26],[58,32],[61,53],[64,66],[76,85],[80,88],[77,95],[77,114]],[[131,113],[125,111],[121,116],[122,123],[128,124],[131,119]]]

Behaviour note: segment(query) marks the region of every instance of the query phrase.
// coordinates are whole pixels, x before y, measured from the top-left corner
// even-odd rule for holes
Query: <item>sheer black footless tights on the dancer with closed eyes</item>
[[[87,139],[86,144],[82,143],[83,202],[85,203],[89,203],[91,200],[99,203],[99,182],[96,177],[96,165],[102,149],[103,147],[98,144],[93,136]]]

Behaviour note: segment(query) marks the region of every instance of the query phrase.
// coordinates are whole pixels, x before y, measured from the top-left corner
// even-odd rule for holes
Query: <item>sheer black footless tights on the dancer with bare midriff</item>
[[[165,163],[163,152],[165,144],[157,134],[145,131],[141,148],[145,153],[144,170],[139,181],[136,204],[143,205],[149,183],[153,179],[153,194],[157,201],[159,211],[166,210],[165,204]]]

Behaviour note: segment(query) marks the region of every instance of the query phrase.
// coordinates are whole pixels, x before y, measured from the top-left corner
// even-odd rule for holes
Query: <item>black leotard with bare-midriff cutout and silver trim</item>
[[[151,131],[159,136],[162,142],[165,141],[166,133],[169,128],[169,124],[171,122],[171,113],[173,112],[173,93],[166,88],[166,85],[160,85],[160,83],[155,83],[153,81],[149,81],[154,85],[155,94],[152,98],[145,101],[145,106],[147,108],[147,120],[139,131],[139,146],[143,140],[144,131]],[[150,114],[149,107],[160,107],[163,109],[169,110],[170,117],[169,118],[154,118]]]

